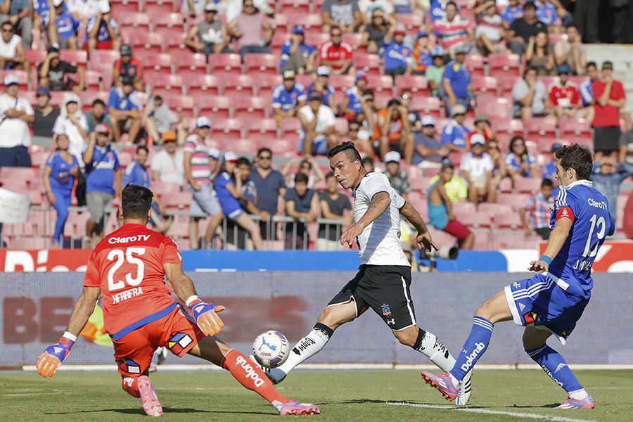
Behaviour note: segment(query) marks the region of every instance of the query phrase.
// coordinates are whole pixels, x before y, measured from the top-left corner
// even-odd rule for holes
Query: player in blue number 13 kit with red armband
[[[455,399],[461,381],[484,354],[494,324],[513,320],[525,326],[525,352],[568,393],[557,409],[593,409],[596,404],[565,359],[546,344],[554,334],[564,345],[592,295],[592,264],[604,238],[615,232],[608,201],[589,181],[592,154],[577,144],[556,151],[556,177],[561,190],[551,214],[552,227],[542,257],[530,262],[539,274],[506,286],[475,312],[471,334],[453,369],[433,375],[427,383]]]

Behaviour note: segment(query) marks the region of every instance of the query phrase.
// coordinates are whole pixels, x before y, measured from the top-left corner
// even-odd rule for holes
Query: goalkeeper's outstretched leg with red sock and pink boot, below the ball
[[[188,352],[231,372],[231,375],[248,390],[257,392],[267,399],[281,415],[319,414],[319,407],[314,404],[290,400],[275,390],[266,374],[244,354],[225,345],[215,337],[203,337]]]

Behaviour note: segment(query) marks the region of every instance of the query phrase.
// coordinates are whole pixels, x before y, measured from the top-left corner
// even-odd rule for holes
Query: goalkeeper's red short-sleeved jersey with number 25
[[[114,340],[172,312],[177,303],[163,264],[181,264],[178,246],[141,224],[124,224],[92,251],[84,286],[99,287],[103,321]]]

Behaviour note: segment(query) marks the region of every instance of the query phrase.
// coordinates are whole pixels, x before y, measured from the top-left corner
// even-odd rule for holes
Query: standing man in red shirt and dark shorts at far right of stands
[[[620,108],[625,105],[625,91],[613,79],[613,63],[602,63],[601,78],[592,85],[594,106],[594,151],[610,153],[618,149],[620,140]]]

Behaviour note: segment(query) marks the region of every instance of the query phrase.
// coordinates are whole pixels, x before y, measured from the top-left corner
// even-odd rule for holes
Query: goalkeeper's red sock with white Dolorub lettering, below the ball
[[[231,349],[226,353],[222,360],[222,368],[231,372],[245,388],[257,392],[274,406],[288,402],[286,397],[275,390],[266,374],[237,350]]]

